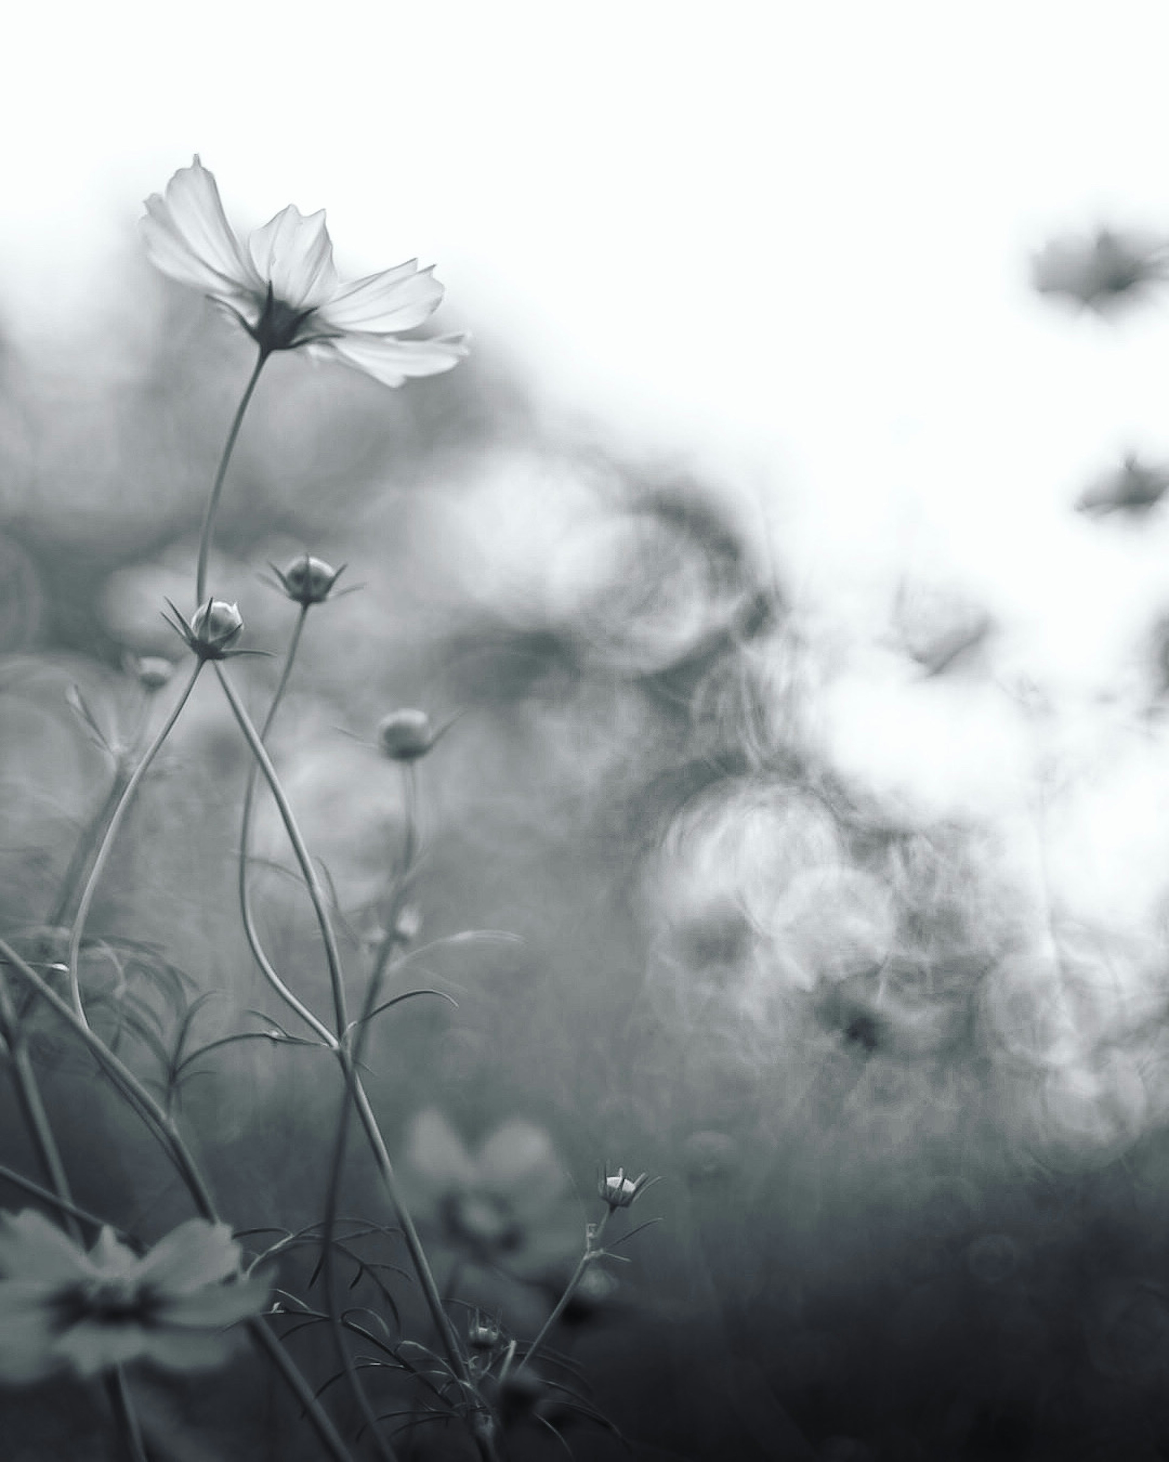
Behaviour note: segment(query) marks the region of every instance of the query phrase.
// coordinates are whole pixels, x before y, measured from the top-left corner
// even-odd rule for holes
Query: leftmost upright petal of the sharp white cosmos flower
[[[215,177],[197,155],[175,173],[165,197],[146,199],[142,232],[151,263],[180,284],[229,295],[262,288],[224,213]]]

